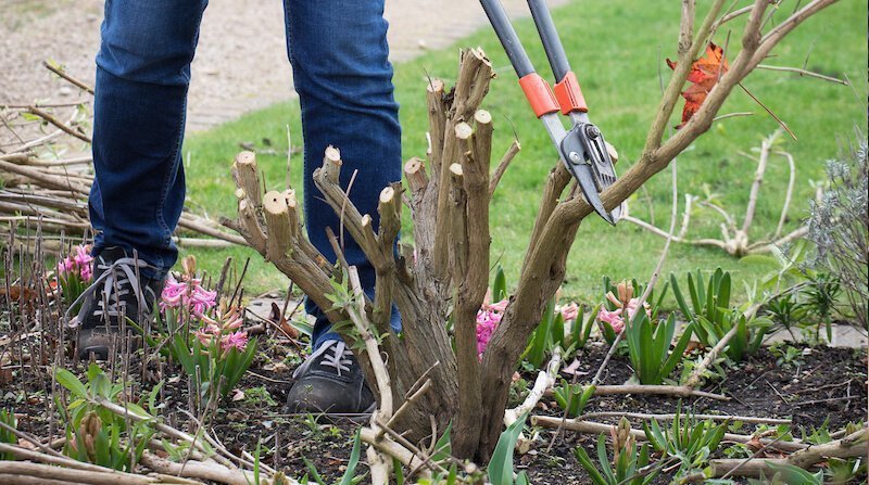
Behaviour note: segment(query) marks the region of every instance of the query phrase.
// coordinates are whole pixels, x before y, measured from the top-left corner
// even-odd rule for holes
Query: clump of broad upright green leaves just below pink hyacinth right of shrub
[[[641,384],[662,384],[669,378],[682,361],[692,331],[693,323],[689,323],[671,350],[676,315],[670,314],[667,320],[655,324],[644,311],[640,311],[628,323],[625,330],[628,355]]]

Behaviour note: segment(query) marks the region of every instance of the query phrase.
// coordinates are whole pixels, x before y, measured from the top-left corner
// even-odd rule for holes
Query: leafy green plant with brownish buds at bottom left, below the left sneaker
[[[124,417],[99,405],[101,399],[115,404],[125,400],[122,394],[126,392],[126,386],[123,383],[113,384],[96,363],[88,368],[87,384],[66,369],[58,369],[55,378],[73,398],[65,410],[59,407],[66,423],[64,454],[87,463],[133,471],[154,435],[150,420],[134,421],[127,425]],[[159,386],[149,396],[152,406],[156,392]],[[126,401],[123,406],[133,413],[150,416],[138,404]]]

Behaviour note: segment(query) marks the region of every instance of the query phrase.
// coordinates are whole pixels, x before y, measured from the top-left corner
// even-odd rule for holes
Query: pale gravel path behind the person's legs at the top
[[[524,0],[504,0],[504,5],[511,15],[528,14]],[[54,60],[92,84],[102,7],[100,0],[0,0],[0,104],[77,99],[74,89],[54,81],[40,64]],[[385,16],[393,62],[448,47],[486,25],[474,0],[387,0]],[[189,130],[293,97],[282,3],[212,0],[192,69]]]

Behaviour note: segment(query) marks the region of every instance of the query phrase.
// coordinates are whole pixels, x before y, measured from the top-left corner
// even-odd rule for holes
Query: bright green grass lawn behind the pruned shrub
[[[709,2],[698,2],[698,10]],[[785,0],[770,23],[780,22],[796,2]],[[783,137],[781,150],[792,153],[797,164],[797,183],[788,229],[796,228],[807,214],[814,194],[811,180],[823,177],[823,162],[834,156],[843,140],[853,136],[854,127],[866,130],[866,0],[843,0],[810,18],[773,51],[767,64],[803,66],[830,76],[847,76],[856,86],[845,87],[790,73],[758,71],[744,82],[796,133],[798,141]],[[679,24],[679,2],[617,0],[597,2],[577,0],[554,12],[570,61],[577,72],[590,105],[592,119],[601,127],[620,153],[619,171],[634,161],[645,140],[647,126],[657,109],[660,76],[666,80],[669,68],[665,58],[675,58]],[[744,22],[744,18],[742,20]],[[732,29],[729,50],[735,50],[742,23],[727,24]],[[545,56],[529,21],[517,23],[529,54],[541,74],[551,77]],[[727,28],[716,36],[723,44]],[[516,281],[518,267],[527,247],[528,234],[537,213],[541,188],[549,168],[556,159],[549,138],[527,106],[513,69],[494,34],[483,28],[452,48],[428,52],[395,66],[396,98],[401,103],[404,157],[423,156],[426,150],[427,118],[425,87],[427,73],[452,82],[459,47],[481,46],[489,54],[499,77],[483,105],[495,119],[495,157],[509,144],[514,129],[522,151],[502,180],[492,203],[492,254],[500,258],[508,281]],[[808,60],[806,63],[806,59]],[[733,55],[728,55],[732,59]],[[660,74],[659,74],[660,73]],[[740,219],[748,199],[756,163],[741,152],[750,153],[764,137],[778,127],[741,90],[734,90],[720,114],[745,112],[750,117],[735,117],[713,125],[679,158],[679,191],[719,194],[725,207]],[[678,124],[681,102],[671,125]],[[285,150],[289,124],[294,145],[301,144],[299,105],[287,102],[259,111],[241,119],[203,133],[191,135],[185,142],[188,170],[188,206],[216,217],[234,216],[236,202],[229,176],[230,162],[240,150],[239,142],[263,145],[263,139]],[[282,188],[286,158],[260,156],[260,165],[269,188]],[[301,155],[292,158],[292,179],[301,187]],[[758,202],[752,238],[774,230],[788,181],[783,158],[770,162]],[[663,228],[669,224],[669,171],[653,178],[631,201],[631,214],[650,219]],[[681,206],[680,206],[681,212]],[[710,210],[697,210],[692,218],[692,237],[717,237],[720,219]],[[405,231],[410,233],[410,231]],[[608,227],[590,218],[579,231],[570,254],[565,293],[584,301],[597,299],[604,276],[613,279],[646,279],[652,271],[664,241],[630,224]],[[247,280],[248,293],[286,288],[288,281],[252,252],[196,250],[204,268],[219,270],[227,256],[243,261],[251,255]],[[714,248],[675,244],[665,273],[683,273],[694,268],[713,270],[722,267],[738,281],[751,282],[764,268],[741,263]],[[735,289],[740,293],[741,284]]]

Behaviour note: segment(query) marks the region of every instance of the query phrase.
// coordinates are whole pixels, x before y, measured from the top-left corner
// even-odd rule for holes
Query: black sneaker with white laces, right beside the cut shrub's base
[[[361,422],[377,408],[353,352],[342,341],[320,345],[292,376],[295,383],[287,395],[290,412]]]

